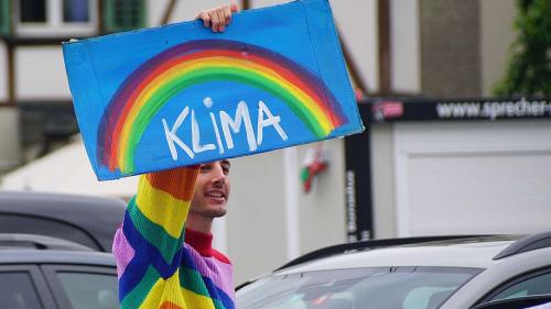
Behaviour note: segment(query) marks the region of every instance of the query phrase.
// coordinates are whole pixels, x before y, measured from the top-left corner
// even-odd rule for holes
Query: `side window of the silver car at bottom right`
[[[490,300],[551,294],[551,271],[548,272],[528,277],[525,276],[507,285],[501,291],[491,297]]]

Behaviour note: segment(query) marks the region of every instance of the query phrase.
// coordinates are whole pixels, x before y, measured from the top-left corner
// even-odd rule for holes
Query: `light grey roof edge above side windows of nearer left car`
[[[75,264],[116,267],[111,253],[33,249],[0,250],[0,265],[7,264]]]

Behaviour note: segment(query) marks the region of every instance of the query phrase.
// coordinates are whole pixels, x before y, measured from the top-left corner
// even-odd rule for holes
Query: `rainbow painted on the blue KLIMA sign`
[[[156,112],[186,88],[215,80],[246,84],[278,97],[317,139],[345,122],[328,88],[299,64],[242,42],[196,40],[155,55],[118,88],[99,125],[99,162],[110,170],[132,173],[134,150]]]

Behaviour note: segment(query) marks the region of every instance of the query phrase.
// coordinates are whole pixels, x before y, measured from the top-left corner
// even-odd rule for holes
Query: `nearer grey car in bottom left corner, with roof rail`
[[[0,308],[119,308],[115,258],[66,240],[0,234]]]

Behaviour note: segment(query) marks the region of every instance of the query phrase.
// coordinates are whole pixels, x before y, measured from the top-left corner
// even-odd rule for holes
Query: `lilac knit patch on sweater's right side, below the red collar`
[[[213,280],[213,283],[215,283],[225,294],[229,295],[235,302],[233,265],[220,262],[215,257],[202,256],[187,243],[185,246],[188,249],[192,261],[197,266],[199,274]]]

